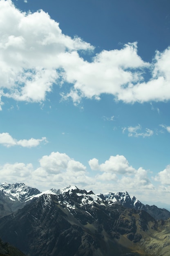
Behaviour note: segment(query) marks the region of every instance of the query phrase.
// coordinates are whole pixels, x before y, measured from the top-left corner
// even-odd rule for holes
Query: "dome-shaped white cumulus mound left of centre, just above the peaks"
[[[40,167],[32,173],[32,180],[41,180],[45,186],[57,184],[61,188],[70,183],[85,185],[91,180],[87,176],[86,167],[65,153],[52,152],[43,156],[39,162]]]

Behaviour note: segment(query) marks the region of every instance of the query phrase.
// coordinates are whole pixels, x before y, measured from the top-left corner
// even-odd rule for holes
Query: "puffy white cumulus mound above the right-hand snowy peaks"
[[[96,174],[96,180],[116,182],[114,189],[154,189],[147,171],[142,167],[136,170],[123,155],[111,156],[103,164],[98,164],[98,159],[93,158],[89,160],[89,166],[94,171],[102,172]]]

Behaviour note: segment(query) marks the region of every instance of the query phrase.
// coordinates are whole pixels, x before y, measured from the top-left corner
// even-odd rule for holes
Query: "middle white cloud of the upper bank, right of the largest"
[[[148,67],[137,54],[136,43],[127,44],[121,50],[102,51],[93,58],[92,63],[83,61],[74,54],[74,65],[70,60],[63,62],[66,81],[74,84],[74,88],[65,96],[75,94],[80,97],[100,99],[102,93],[116,95],[132,82],[140,81],[141,71]],[[77,59],[77,61],[76,61]],[[76,62],[75,62],[76,61]]]

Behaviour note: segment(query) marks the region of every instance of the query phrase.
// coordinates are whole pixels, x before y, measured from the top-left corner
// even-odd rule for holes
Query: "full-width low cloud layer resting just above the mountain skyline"
[[[39,167],[30,164],[14,163],[0,166],[1,182],[25,182],[40,190],[63,188],[74,184],[80,189],[93,190],[94,193],[128,191],[139,200],[161,200],[166,203],[170,191],[170,166],[155,177],[150,172],[131,166],[123,155],[110,156],[104,163],[98,159],[89,160],[88,166],[70,158],[65,153],[52,152],[39,159]],[[29,183],[28,183],[29,182]],[[156,182],[156,183],[155,183]]]

